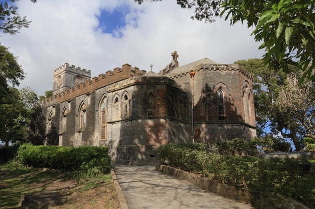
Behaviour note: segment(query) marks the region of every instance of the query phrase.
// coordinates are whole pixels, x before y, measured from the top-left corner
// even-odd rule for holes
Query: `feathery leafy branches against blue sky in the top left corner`
[[[31,21],[17,13],[18,7],[14,6],[16,0],[7,0],[0,3],[0,30],[4,33],[15,35],[22,27],[28,28]],[[31,0],[35,3],[37,0]]]

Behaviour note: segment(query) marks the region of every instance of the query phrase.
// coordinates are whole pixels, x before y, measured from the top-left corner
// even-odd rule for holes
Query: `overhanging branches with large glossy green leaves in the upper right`
[[[135,0],[139,4],[144,0]],[[160,0],[147,0],[160,1]],[[315,68],[315,0],[177,0],[182,8],[194,8],[192,18],[213,22],[214,16],[230,18],[231,25],[246,21],[252,35],[263,43],[264,62],[273,69],[303,69],[301,80]],[[220,14],[220,6],[223,11]]]

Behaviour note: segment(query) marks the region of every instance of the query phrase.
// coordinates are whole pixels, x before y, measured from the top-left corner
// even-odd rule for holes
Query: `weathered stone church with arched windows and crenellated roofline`
[[[155,162],[165,143],[256,136],[249,73],[208,58],[179,66],[176,51],[171,56],[159,74],[125,64],[92,79],[90,70],[63,64],[53,96],[39,103],[37,133],[54,128],[60,146],[107,146],[123,164]]]

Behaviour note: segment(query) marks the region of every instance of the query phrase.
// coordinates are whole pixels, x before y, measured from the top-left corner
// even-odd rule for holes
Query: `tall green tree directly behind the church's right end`
[[[287,73],[283,69],[273,70],[263,64],[261,59],[239,60],[235,62],[253,76],[253,91],[258,136],[281,133],[290,138],[297,150],[302,148],[299,126],[288,124],[289,114],[281,111],[275,104],[279,92],[286,85]],[[290,71],[297,71],[291,66]]]

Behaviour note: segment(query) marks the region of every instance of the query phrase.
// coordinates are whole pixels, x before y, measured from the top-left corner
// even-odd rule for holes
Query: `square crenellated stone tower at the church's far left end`
[[[63,64],[56,70],[54,70],[53,77],[53,95],[63,92],[64,90],[90,80],[91,71],[69,65],[68,63]]]

